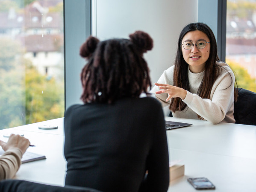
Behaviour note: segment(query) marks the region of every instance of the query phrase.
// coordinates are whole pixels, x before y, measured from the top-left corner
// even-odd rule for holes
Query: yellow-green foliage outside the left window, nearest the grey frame
[[[26,124],[64,116],[64,83],[26,67]]]

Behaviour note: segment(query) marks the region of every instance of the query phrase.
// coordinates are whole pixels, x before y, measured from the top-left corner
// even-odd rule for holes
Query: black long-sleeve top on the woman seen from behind
[[[165,121],[156,99],[73,105],[64,127],[65,185],[103,192],[168,190]]]

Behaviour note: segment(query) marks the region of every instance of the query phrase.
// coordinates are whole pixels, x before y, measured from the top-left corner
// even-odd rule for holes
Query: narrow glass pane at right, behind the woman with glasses
[[[256,0],[227,0],[226,62],[238,87],[256,92]]]

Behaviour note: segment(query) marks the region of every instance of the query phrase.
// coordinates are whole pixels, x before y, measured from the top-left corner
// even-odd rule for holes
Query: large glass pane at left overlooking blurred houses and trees
[[[64,116],[63,0],[0,0],[0,129]]]

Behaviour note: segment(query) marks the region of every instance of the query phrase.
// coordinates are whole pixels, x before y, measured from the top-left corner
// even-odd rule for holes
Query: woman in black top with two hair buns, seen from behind
[[[169,157],[160,102],[146,94],[149,69],[143,53],[153,40],[136,31],[129,39],[80,48],[88,63],[81,72],[84,105],[65,112],[65,185],[103,192],[166,192]]]

